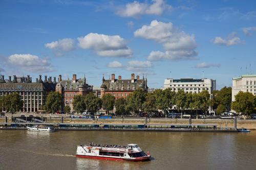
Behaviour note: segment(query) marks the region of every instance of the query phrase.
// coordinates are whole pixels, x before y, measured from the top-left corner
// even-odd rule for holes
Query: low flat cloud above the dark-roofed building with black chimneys
[[[47,59],[39,58],[31,54],[14,54],[8,57],[8,62],[28,71],[50,72],[52,65]]]

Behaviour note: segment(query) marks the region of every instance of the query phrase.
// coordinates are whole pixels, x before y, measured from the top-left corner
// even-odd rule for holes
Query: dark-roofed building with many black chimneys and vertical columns
[[[49,92],[55,91],[56,78],[52,82],[52,77],[45,76],[45,80],[42,81],[41,75],[36,82],[32,82],[32,78],[28,75],[27,78],[17,77],[14,75],[13,80],[9,76],[8,80],[5,80],[4,75],[0,78],[0,96],[5,96],[11,93],[18,93],[23,101],[23,112],[37,112],[41,110],[41,107],[45,105],[46,98]]]

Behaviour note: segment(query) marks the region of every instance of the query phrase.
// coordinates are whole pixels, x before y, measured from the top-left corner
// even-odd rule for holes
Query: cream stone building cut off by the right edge
[[[239,91],[250,92],[256,95],[256,75],[242,75],[232,79],[232,101]]]

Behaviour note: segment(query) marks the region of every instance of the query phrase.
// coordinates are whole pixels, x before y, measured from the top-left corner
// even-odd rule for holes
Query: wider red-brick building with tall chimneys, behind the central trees
[[[111,80],[105,80],[104,76],[102,78],[102,84],[100,86],[100,96],[109,93],[118,98],[126,98],[127,95],[132,93],[136,89],[142,89],[147,92],[147,79],[139,79],[139,76],[132,74],[131,79],[122,79],[121,76],[118,76],[118,79],[115,79],[115,74],[111,75]]]

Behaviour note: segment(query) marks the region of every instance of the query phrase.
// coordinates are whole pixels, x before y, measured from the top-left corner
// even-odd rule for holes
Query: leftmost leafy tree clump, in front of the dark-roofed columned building
[[[19,94],[12,93],[0,98],[0,111],[16,112],[22,110],[23,101]]]

